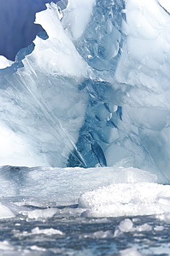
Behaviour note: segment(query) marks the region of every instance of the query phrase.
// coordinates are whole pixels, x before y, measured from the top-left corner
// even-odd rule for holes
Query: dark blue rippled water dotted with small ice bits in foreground
[[[154,217],[126,217],[133,221],[134,231],[115,235],[125,217],[87,219],[77,205],[57,210],[49,218],[29,219],[19,213],[2,219],[0,255],[170,255],[170,224]],[[54,230],[60,233],[52,234]]]

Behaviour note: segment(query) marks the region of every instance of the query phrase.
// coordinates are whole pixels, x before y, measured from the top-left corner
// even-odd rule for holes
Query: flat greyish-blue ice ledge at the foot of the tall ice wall
[[[78,203],[83,192],[103,185],[156,181],[155,174],[133,168],[4,166],[0,170],[0,194],[1,200],[7,202],[10,199],[28,205],[70,205]]]

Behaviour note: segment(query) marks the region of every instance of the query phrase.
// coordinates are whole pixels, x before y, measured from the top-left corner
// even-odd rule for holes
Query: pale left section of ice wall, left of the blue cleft
[[[18,62],[7,73],[1,71],[1,84],[6,87],[1,90],[6,102],[1,120],[4,129],[19,138],[16,142],[11,136],[10,147],[17,152],[3,156],[2,165],[63,166],[76,148],[78,129],[83,125],[87,95],[78,84],[89,77],[89,67],[65,35],[55,4],[36,15],[38,22],[48,38],[36,37],[34,51],[22,60],[23,67],[19,68]],[[83,161],[80,154],[73,154]]]

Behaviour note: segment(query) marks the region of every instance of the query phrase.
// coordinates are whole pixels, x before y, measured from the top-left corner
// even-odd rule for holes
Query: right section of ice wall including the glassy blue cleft
[[[85,144],[92,159],[91,144],[102,165],[158,167],[169,179],[166,8],[158,1],[96,1],[95,18],[76,46],[97,80],[86,82],[90,105],[78,148]]]

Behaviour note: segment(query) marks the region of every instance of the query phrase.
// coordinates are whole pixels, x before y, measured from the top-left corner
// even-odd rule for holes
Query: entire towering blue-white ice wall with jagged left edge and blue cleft
[[[47,4],[36,14],[47,34],[0,71],[0,164],[169,179],[169,21],[164,1]]]

